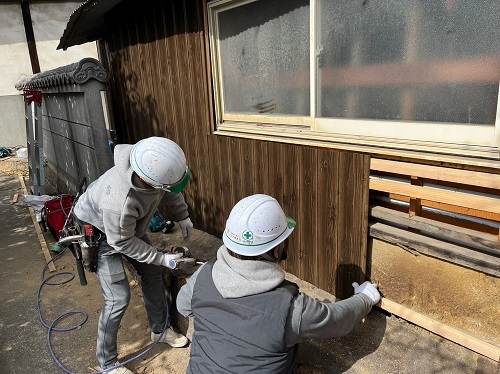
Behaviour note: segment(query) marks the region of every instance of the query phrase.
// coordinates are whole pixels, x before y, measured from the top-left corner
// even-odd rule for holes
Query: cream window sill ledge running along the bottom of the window
[[[329,134],[311,131],[308,126],[231,121],[219,124],[214,134],[359,152],[372,157],[420,160],[500,170],[499,150],[494,147]]]

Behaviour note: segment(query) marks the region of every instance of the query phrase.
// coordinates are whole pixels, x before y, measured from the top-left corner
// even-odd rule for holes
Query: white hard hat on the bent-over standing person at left
[[[140,140],[132,147],[130,164],[147,184],[174,193],[186,187],[191,175],[181,147],[157,136]]]

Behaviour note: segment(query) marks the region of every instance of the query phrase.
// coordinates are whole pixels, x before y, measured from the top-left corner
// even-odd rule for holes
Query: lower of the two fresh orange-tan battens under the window
[[[500,217],[500,199],[370,178],[370,189],[490,212]]]

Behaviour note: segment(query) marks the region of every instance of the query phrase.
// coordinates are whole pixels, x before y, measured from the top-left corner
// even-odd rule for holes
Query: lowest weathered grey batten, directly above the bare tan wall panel
[[[380,222],[370,224],[369,233],[373,238],[409,248],[410,251],[500,277],[500,258],[498,256],[479,253]]]

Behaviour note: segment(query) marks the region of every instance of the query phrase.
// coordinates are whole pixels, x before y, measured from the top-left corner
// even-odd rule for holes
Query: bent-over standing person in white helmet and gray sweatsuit
[[[164,198],[186,239],[193,230],[188,207],[181,191],[190,178],[186,157],[175,142],[150,137],[135,145],[120,144],[114,149],[115,165],[91,183],[78,199],[75,220],[90,224],[100,235],[97,278],[104,307],[99,317],[97,361],[110,374],[133,374],[117,361],[117,334],[130,300],[129,282],[122,258],[141,276],[144,304],[151,339],[172,347],[183,347],[188,339],[166,326],[167,307],[163,290],[164,267],[175,268],[182,254],[167,254],[151,246],[146,230]]]

